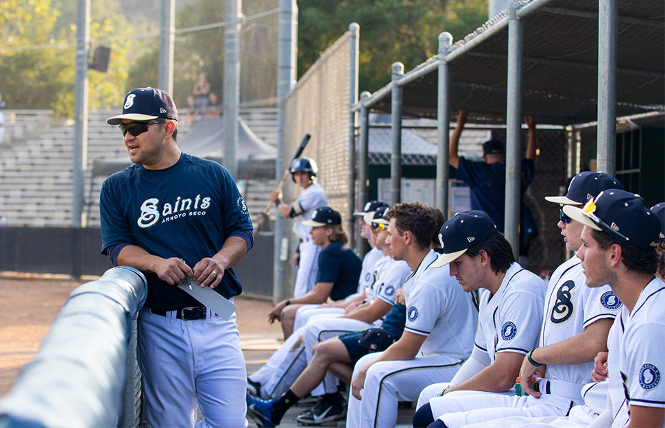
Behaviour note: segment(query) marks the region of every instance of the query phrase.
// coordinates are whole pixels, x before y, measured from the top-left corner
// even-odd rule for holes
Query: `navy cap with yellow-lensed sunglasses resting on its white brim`
[[[564,205],[568,217],[639,248],[653,248],[659,239],[658,216],[637,193],[618,189],[601,191],[583,208]]]

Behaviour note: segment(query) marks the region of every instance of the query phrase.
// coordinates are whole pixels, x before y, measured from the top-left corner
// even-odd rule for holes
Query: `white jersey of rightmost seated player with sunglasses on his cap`
[[[633,311],[624,307],[612,324],[607,340],[612,428],[628,424],[630,405],[665,407],[664,308],[665,283],[653,278]]]

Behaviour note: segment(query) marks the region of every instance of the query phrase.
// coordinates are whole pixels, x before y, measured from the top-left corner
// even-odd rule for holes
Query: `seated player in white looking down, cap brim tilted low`
[[[538,342],[543,316],[546,283],[516,263],[510,243],[487,213],[457,213],[442,226],[439,240],[444,254],[432,267],[450,263],[450,275],[465,292],[481,290],[478,328],[471,357],[450,384],[435,383],[421,392],[413,427],[434,422],[444,394],[510,390],[524,355]]]

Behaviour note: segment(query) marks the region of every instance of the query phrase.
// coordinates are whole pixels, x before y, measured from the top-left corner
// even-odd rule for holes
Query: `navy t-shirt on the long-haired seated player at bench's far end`
[[[330,298],[341,300],[358,289],[363,262],[342,241],[330,243],[319,254],[317,283],[333,283]]]

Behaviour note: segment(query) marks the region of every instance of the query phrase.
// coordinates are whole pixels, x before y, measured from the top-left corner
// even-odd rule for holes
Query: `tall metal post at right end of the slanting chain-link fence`
[[[349,195],[348,195],[348,204],[349,204],[349,217],[348,217],[348,235],[351,237],[352,242],[350,243],[351,248],[354,248],[358,243],[356,241],[356,234],[354,233],[355,229],[355,220],[353,218],[353,212],[356,202],[356,112],[351,109],[351,106],[358,102],[358,51],[359,51],[359,36],[360,36],[360,25],[357,23],[351,23],[349,25],[349,33],[351,36],[350,40],[350,49],[349,49]]]

